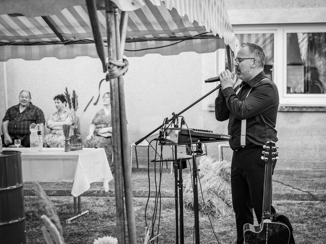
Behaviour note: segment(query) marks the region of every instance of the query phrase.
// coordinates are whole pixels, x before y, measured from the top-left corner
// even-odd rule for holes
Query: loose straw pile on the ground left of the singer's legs
[[[206,156],[200,158],[198,167],[198,203],[201,212],[207,212],[215,218],[226,216],[232,212],[231,197],[231,163],[216,161]],[[184,177],[184,206],[194,207],[192,177]],[[204,200],[203,200],[204,198]]]

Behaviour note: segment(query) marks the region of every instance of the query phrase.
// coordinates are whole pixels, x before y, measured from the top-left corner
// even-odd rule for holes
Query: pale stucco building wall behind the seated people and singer
[[[172,112],[180,112],[206,94],[214,84],[204,79],[216,76],[215,54],[182,53],[176,56],[146,55],[128,58],[129,70],[125,80],[126,113],[129,143],[135,142],[158,127]],[[89,99],[97,96],[98,83],[104,78],[99,59],[78,57],[71,60],[44,58],[39,61],[11,59],[0,66],[6,67],[8,106],[18,103],[18,94],[29,89],[32,102],[39,106],[45,117],[55,111],[53,97],[67,86],[75,89],[82,113]],[[2,70],[1,70],[2,69]],[[4,87],[4,77],[0,76]],[[102,85],[101,94],[108,88]],[[4,89],[1,89],[0,117],[5,113]],[[227,133],[227,122],[215,120],[214,112],[205,104],[211,103],[216,94],[183,113],[190,128]],[[91,120],[101,108],[91,105],[81,123],[85,139]],[[325,112],[279,112],[277,130],[280,147],[278,168],[324,169],[326,150]],[[207,144],[208,154],[218,158],[218,143]],[[225,150],[228,152],[228,149]],[[147,149],[138,148],[139,161],[147,164]],[[133,153],[134,157],[134,153]]]

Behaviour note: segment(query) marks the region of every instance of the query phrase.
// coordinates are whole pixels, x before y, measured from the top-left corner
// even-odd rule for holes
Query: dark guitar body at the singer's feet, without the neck
[[[264,220],[260,225],[243,226],[246,244],[288,244],[290,234],[287,225],[276,221]]]

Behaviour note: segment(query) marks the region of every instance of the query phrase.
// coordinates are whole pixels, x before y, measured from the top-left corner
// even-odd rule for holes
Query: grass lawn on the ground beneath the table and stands
[[[55,205],[63,226],[66,243],[93,243],[94,239],[106,235],[116,237],[115,198],[82,197],[82,210],[90,213],[66,224],[65,220],[73,216],[72,197],[49,197]],[[25,196],[26,238],[29,244],[46,243],[41,232],[38,198]],[[145,207],[147,198],[134,198],[135,221],[138,243],[145,236]],[[150,199],[146,221],[152,222],[154,199]],[[322,201],[274,201],[278,213],[285,214],[293,226],[296,244],[324,244],[326,241],[326,202]],[[160,218],[159,218],[160,212]],[[223,218],[210,217],[200,213],[200,242],[233,244],[235,242],[235,221],[231,214]],[[191,209],[184,209],[184,243],[194,241],[194,215]],[[175,200],[162,198],[156,211],[155,235],[159,226],[157,243],[175,243]],[[217,238],[216,240],[214,230]],[[128,243],[128,242],[127,242]],[[155,242],[156,243],[156,242]]]

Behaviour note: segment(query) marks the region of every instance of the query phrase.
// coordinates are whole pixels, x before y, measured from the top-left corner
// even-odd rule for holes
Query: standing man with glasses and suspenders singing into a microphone
[[[253,209],[258,223],[261,223],[265,169],[260,159],[263,156],[262,146],[269,140],[278,140],[275,125],[279,94],[275,83],[265,76],[264,62],[265,54],[260,46],[242,43],[235,58],[236,74],[229,70],[221,72],[221,89],[215,100],[216,119],[229,119],[229,143],[233,150],[231,190],[237,244],[243,244],[243,225],[254,224]],[[237,79],[242,82],[235,86]],[[243,123],[246,124],[241,133]],[[273,213],[275,209],[271,207]]]

